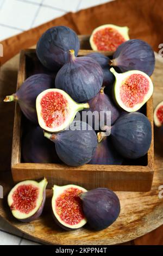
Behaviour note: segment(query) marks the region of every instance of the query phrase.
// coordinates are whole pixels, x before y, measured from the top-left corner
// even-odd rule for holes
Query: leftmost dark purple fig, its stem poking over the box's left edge
[[[17,101],[23,114],[37,124],[36,97],[46,89],[54,87],[53,78],[46,74],[37,74],[27,78],[18,91],[6,96],[4,102]]]

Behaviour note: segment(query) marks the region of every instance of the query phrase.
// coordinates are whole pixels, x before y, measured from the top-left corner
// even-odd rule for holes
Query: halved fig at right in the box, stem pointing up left
[[[114,84],[115,101],[125,111],[139,110],[152,96],[153,83],[144,72],[131,70],[118,74],[114,68],[111,68],[110,71],[116,78]]]

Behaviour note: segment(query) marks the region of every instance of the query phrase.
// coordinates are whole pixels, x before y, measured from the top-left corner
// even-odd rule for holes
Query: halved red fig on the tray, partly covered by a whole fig
[[[63,229],[72,230],[83,227],[86,218],[79,194],[87,192],[77,185],[53,187],[52,210],[55,222]]]

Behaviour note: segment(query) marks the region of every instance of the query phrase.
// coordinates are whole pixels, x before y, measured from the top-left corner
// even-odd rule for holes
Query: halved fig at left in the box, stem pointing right
[[[89,108],[88,103],[76,103],[60,89],[47,89],[36,99],[39,125],[49,132],[60,132],[70,125],[76,113]]]

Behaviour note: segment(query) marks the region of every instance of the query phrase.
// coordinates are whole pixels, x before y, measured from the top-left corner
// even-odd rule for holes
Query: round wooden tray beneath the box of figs
[[[1,99],[15,91],[16,71],[18,56],[14,57],[1,68]],[[154,81],[154,106],[162,100],[162,69],[163,62],[160,57],[156,61],[153,75]],[[4,105],[5,104],[5,105]],[[0,182],[4,186],[4,194],[11,188],[10,173],[11,133],[14,117],[14,103],[1,103],[0,118],[3,120],[1,127],[1,172]],[[2,131],[2,130],[1,130]],[[163,185],[162,149],[158,141],[155,142],[155,172],[152,190],[150,192],[117,192],[121,201],[121,214],[118,220],[108,229],[95,232],[88,227],[76,231],[63,231],[55,225],[51,215],[51,191],[47,191],[47,202],[43,215],[39,220],[29,224],[18,222],[11,216],[7,206],[6,196],[0,199],[0,215],[24,233],[32,235],[42,241],[53,244],[65,245],[113,245],[127,242],[136,237],[147,234],[163,224],[163,199],[159,199],[159,186]],[[136,240],[137,241],[137,240]],[[139,241],[137,243],[139,244]],[[142,240],[141,240],[142,241]]]

